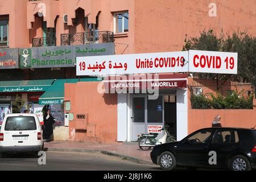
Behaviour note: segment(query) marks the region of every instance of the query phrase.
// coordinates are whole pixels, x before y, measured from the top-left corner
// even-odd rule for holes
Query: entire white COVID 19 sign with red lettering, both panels
[[[237,74],[237,53],[189,50],[77,57],[76,64],[77,76],[172,72]]]

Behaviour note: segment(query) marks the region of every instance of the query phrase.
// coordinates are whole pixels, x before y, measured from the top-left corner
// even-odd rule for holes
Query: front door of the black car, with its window
[[[205,166],[208,162],[208,144],[213,129],[195,131],[175,146],[177,163],[185,166]]]

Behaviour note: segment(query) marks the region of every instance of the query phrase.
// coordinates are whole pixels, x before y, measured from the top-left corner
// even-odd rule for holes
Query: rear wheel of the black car
[[[230,160],[229,168],[232,171],[251,171],[251,164],[245,156],[237,155]]]

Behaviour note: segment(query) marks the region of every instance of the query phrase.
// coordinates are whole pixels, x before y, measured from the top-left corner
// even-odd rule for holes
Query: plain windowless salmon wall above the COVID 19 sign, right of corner
[[[217,16],[209,16],[209,4],[217,5]],[[136,53],[181,51],[185,39],[212,28],[217,35],[245,31],[256,35],[255,0],[148,0],[135,1]]]

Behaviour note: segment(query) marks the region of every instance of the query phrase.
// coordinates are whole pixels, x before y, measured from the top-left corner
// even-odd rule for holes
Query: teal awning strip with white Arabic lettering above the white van
[[[0,86],[0,92],[44,92],[48,86]]]

